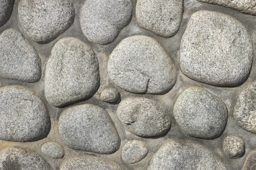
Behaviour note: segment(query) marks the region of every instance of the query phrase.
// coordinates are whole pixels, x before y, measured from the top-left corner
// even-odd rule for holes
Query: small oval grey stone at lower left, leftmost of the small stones
[[[41,151],[44,155],[50,156],[54,159],[61,159],[64,157],[63,147],[56,142],[47,142],[41,146]]]

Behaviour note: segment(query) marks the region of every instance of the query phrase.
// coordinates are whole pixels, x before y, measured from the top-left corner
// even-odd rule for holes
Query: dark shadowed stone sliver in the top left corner
[[[12,14],[15,0],[0,0],[0,27],[3,26]]]

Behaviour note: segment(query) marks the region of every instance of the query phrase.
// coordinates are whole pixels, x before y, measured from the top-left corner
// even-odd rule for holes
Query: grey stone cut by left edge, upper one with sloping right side
[[[3,31],[0,55],[1,78],[23,82],[37,82],[41,78],[41,59],[20,32],[12,28]]]

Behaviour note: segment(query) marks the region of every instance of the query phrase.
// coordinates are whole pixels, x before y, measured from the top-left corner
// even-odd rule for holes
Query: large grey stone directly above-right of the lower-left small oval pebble
[[[96,153],[113,153],[120,139],[108,113],[95,105],[68,108],[59,118],[59,132],[68,147]]]

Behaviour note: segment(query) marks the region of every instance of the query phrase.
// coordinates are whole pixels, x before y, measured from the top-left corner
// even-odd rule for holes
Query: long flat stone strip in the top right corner
[[[203,3],[233,8],[245,14],[256,15],[256,0],[198,0]]]

